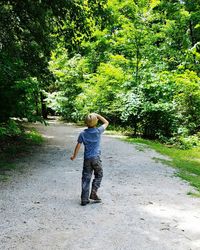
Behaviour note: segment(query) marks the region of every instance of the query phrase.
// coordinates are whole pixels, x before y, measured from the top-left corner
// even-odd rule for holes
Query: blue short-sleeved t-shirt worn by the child
[[[84,158],[96,158],[100,156],[100,139],[104,132],[104,126],[98,128],[87,128],[82,131],[78,137],[78,143],[83,143],[85,146]]]

